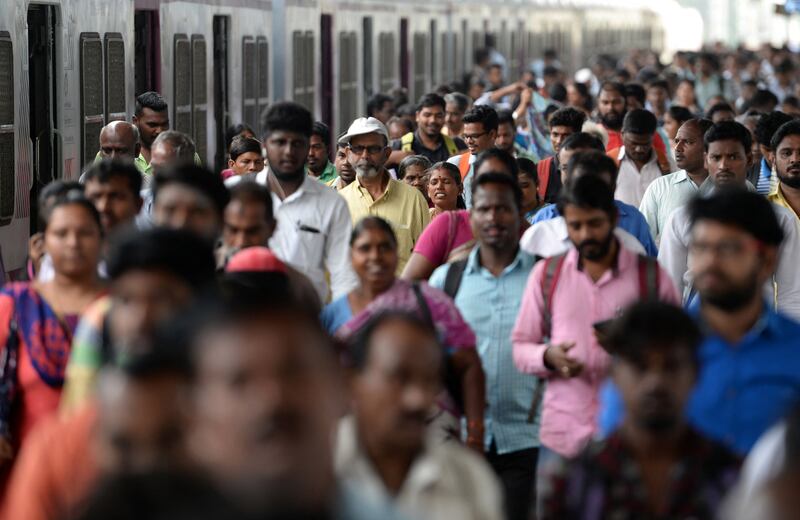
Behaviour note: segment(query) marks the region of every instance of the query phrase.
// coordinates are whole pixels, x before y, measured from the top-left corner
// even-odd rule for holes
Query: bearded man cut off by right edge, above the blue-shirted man
[[[767,197],[771,202],[800,215],[800,122],[781,126],[772,138],[773,164],[778,186]]]

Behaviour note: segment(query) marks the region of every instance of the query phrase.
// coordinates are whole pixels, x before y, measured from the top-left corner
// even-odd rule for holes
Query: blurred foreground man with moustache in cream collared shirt
[[[443,360],[436,332],[414,314],[379,314],[349,351],[353,413],[337,436],[339,477],[409,518],[500,520],[502,499],[486,462],[431,437],[426,418]],[[309,460],[317,471],[319,462]]]

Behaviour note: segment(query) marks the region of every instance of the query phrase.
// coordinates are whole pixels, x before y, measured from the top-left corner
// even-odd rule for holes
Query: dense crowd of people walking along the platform
[[[141,94],[0,290],[0,513],[793,517],[798,62],[481,49],[215,172]]]

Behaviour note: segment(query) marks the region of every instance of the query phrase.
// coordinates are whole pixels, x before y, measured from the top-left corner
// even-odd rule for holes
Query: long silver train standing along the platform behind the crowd
[[[665,0],[667,1],[667,0]],[[0,2],[0,260],[24,269],[36,201],[77,179],[100,129],[129,120],[138,94],[169,103],[171,126],[209,166],[226,127],[260,131],[271,102],[294,100],[334,135],[368,97],[411,99],[459,80],[492,35],[509,70],[544,49],[574,70],[599,53],[660,50],[647,0],[4,0]]]

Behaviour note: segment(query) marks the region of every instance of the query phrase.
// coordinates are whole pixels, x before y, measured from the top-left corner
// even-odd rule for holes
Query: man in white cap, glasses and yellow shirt
[[[430,222],[425,197],[416,188],[393,179],[384,168],[392,152],[389,131],[374,117],[353,121],[339,142],[347,144],[347,160],[356,170],[356,180],[339,194],[347,201],[353,224],[371,215],[392,225],[397,236],[399,275]]]

